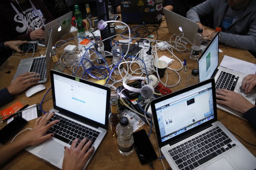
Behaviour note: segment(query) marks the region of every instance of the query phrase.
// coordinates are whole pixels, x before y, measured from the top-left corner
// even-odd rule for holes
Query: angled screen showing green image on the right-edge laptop
[[[198,58],[200,82],[210,79],[218,67],[218,34],[212,39],[207,48]]]

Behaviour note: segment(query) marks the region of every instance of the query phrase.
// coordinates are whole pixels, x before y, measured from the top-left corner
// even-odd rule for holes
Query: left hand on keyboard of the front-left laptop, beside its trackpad
[[[20,138],[19,142],[24,143],[27,146],[35,146],[35,145],[41,144],[42,142],[44,142],[48,139],[51,139],[52,136],[54,136],[53,133],[49,133],[47,135],[45,135],[45,133],[47,133],[47,130],[50,127],[52,127],[54,124],[59,122],[59,120],[54,120],[54,121],[50,122],[49,124],[47,124],[47,122],[49,121],[49,119],[51,119],[51,117],[53,115],[54,115],[54,112],[50,113],[50,114],[49,114],[49,112],[47,112],[43,116],[39,117],[36,120],[35,125],[32,128],[32,130],[25,133]]]

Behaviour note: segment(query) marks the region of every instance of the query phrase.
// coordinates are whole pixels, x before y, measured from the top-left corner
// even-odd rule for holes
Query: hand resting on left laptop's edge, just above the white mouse
[[[11,85],[7,87],[9,93],[11,95],[19,94],[20,92],[24,91],[31,85],[35,85],[40,80],[39,74],[35,72],[26,72],[24,74],[20,74]]]

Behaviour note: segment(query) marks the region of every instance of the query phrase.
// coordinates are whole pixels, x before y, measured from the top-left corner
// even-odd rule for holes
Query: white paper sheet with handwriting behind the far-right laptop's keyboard
[[[220,66],[238,71],[243,74],[255,74],[256,64],[229,56],[224,56]]]

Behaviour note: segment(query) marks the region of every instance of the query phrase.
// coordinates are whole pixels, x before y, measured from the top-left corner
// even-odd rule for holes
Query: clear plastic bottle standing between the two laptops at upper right
[[[189,55],[189,58],[192,60],[197,60],[199,57],[201,43],[204,39],[202,32],[203,32],[203,29],[198,28],[198,32],[194,36],[193,44],[191,46],[190,55]]]

